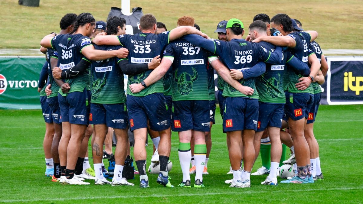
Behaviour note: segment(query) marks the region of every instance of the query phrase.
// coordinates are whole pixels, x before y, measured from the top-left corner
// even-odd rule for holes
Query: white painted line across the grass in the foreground
[[[341,187],[341,188],[318,188],[318,189],[297,189],[297,190],[278,190],[272,192],[281,192],[281,193],[295,193],[295,192],[309,192],[309,191],[348,191],[348,190],[358,190],[363,187]],[[0,200],[4,203],[10,202],[36,202],[36,201],[69,201],[69,200],[85,200],[85,199],[130,199],[130,198],[147,198],[147,197],[185,197],[185,196],[212,196],[212,195],[245,195],[245,194],[257,194],[257,193],[266,193],[266,191],[244,191],[241,189],[240,192],[203,192],[203,193],[184,193],[184,194],[176,194],[176,195],[160,195],[160,194],[150,194],[150,195],[125,195],[125,196],[82,196],[82,197],[69,197],[69,198],[35,198],[35,199],[14,199],[14,200]]]

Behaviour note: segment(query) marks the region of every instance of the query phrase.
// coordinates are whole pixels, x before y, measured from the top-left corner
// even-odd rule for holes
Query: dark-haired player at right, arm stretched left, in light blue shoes
[[[294,21],[295,22],[295,21]],[[256,38],[254,42],[266,41],[278,46],[287,46],[290,52],[302,62],[308,63],[308,42],[313,41],[318,33],[316,31],[309,32],[293,32],[293,22],[286,14],[277,14],[271,19],[271,26],[278,29],[283,36],[263,36]],[[296,24],[296,23],[295,23]],[[312,60],[309,77],[303,77],[294,70],[288,70],[289,82],[287,98],[291,98],[292,102],[287,102],[285,114],[289,123],[289,131],[293,138],[295,157],[297,162],[298,175],[293,178],[281,181],[281,183],[313,183],[310,167],[309,146],[304,137],[304,126],[309,116],[309,110],[313,105],[314,95],[313,87],[310,86],[317,76],[320,68],[319,61],[316,56]]]

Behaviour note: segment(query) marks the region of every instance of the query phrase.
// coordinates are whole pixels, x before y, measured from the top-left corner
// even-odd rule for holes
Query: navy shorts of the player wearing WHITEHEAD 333
[[[147,127],[154,131],[166,130],[170,127],[170,109],[163,93],[152,93],[146,96],[127,95],[127,112],[131,131]]]

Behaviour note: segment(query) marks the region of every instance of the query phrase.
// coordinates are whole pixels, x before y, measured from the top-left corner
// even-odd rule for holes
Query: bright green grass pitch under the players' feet
[[[216,111],[213,147],[208,162],[206,188],[167,189],[149,175],[150,189],[135,187],[70,186],[53,183],[44,176],[42,140],[45,132],[40,110],[0,110],[0,202],[24,203],[362,203],[360,179],[363,155],[363,105],[320,106],[315,136],[325,180],[314,184],[262,186],[265,176],[252,176],[249,189],[229,188],[224,180],[229,168],[221,117]],[[150,160],[152,146],[147,147]],[[172,135],[171,183],[181,179],[178,136]],[[91,157],[91,155],[90,155]],[[106,162],[106,160],[104,160]],[[90,159],[91,162],[91,159]],[[105,163],[106,164],[106,163]],[[91,166],[93,166],[91,164]],[[106,164],[107,166],[107,164]],[[254,170],[261,166],[258,159]],[[194,176],[191,176],[194,179]],[[281,180],[281,179],[279,179]]]

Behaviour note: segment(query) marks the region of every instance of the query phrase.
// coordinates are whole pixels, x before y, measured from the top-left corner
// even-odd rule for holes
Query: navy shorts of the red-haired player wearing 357
[[[172,131],[196,130],[209,132],[211,121],[209,119],[209,101],[173,101],[172,112]]]

